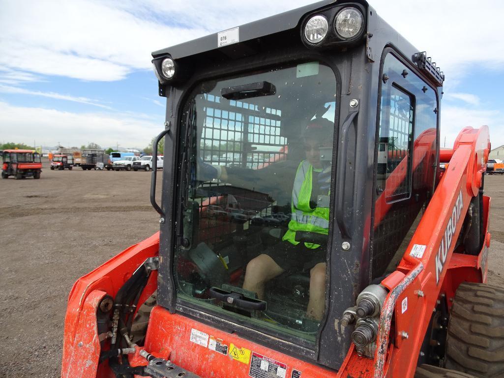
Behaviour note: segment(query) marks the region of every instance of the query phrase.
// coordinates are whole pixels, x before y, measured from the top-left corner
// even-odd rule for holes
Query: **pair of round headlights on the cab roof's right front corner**
[[[364,26],[364,17],[356,8],[344,8],[334,19],[334,31],[341,39],[348,40],[359,34]],[[329,22],[322,15],[311,17],[304,25],[304,38],[312,45],[319,44],[327,36]]]

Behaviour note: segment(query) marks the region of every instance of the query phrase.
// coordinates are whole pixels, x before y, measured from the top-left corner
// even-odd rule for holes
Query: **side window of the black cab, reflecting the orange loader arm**
[[[396,269],[433,192],[437,97],[393,53],[386,55],[377,124],[371,277]],[[385,76],[384,76],[385,77]]]

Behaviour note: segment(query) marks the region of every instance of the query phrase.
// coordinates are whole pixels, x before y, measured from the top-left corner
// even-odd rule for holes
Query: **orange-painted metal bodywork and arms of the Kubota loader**
[[[384,286],[391,289],[391,292],[382,310],[381,333],[374,359],[359,357],[351,347],[339,371],[328,370],[246,340],[239,334],[219,330],[181,314],[171,314],[160,306],[152,311],[145,350],[159,357],[169,358],[175,364],[205,378],[248,377],[248,351],[285,364],[286,377],[290,377],[292,369],[296,369],[302,372],[303,378],[413,378],[432,309],[438,298],[442,298],[440,294],[446,294],[444,300],[450,305],[449,298],[453,297],[461,282],[483,282],[486,279],[486,259],[490,242],[487,232],[490,200],[487,197],[483,201],[486,238],[480,254],[468,256],[454,253],[454,240],[462,228],[471,198],[478,194],[488,147],[487,127],[479,130],[465,128],[457,138],[450,154],[449,169],[440,179],[397,273],[383,281]],[[415,244],[425,247],[421,256],[410,255]],[[155,234],[123,251],[74,285],[65,321],[62,378],[113,376],[106,363],[98,367],[98,372],[96,367],[93,367],[94,375],[85,370],[84,364],[89,361],[96,366],[93,361],[99,354],[93,347],[96,329],[91,329],[90,326],[92,307],[96,308],[99,301],[96,298],[104,295],[103,293],[114,297],[133,271],[145,259],[157,254],[158,247],[159,234]],[[155,279],[151,279],[139,302],[143,302],[152,293],[155,285]],[[419,290],[425,295],[419,296]],[[392,324],[390,318],[389,323],[384,321],[389,316],[392,317]],[[205,333],[209,338],[213,336],[221,339],[221,343],[228,346],[228,353],[224,355],[210,349],[208,340],[206,343],[192,342],[190,339],[193,329]],[[404,333],[407,333],[407,337],[401,336],[405,335]],[[89,344],[85,349],[87,355],[73,356],[75,353],[84,354],[84,349],[78,349],[81,339],[87,340]],[[233,355],[237,358],[233,358]],[[243,361],[239,361],[239,357]],[[132,365],[147,363],[142,361],[138,351],[135,355],[130,355],[129,359]],[[77,367],[71,368],[71,361],[77,364]]]

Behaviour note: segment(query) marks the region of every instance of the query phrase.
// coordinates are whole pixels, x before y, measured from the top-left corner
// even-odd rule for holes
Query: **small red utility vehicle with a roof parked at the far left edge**
[[[40,178],[42,162],[40,154],[33,150],[4,150],[2,153],[2,178],[15,176]]]

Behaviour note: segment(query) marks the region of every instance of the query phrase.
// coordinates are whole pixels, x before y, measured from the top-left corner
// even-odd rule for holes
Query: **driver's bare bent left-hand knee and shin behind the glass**
[[[283,272],[284,270],[271,257],[259,255],[247,264],[243,288],[256,292],[259,299],[264,299],[265,283]]]

